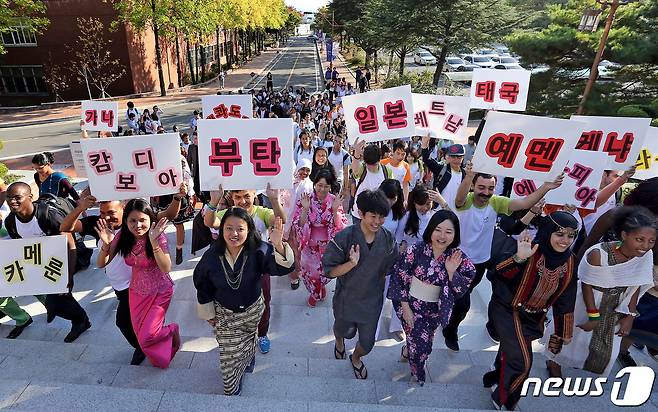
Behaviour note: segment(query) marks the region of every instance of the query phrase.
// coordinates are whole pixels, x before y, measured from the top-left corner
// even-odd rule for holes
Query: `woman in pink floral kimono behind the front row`
[[[322,255],[327,243],[347,225],[342,195],[331,194],[335,183],[329,170],[320,170],[313,179],[313,193],[300,196],[293,214],[292,227],[301,253],[301,276],[310,293],[311,307],[327,296],[325,285],[331,279],[322,276]]]

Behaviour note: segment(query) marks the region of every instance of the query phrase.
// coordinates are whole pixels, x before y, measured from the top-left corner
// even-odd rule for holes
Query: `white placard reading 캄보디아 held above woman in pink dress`
[[[182,182],[178,133],[85,139],[81,145],[89,188],[98,200],[176,193]]]

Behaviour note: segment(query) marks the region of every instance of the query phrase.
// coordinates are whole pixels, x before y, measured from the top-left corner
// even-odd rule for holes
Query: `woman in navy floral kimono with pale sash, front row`
[[[434,333],[448,324],[455,299],[468,291],[475,276],[459,241],[457,215],[440,210],[430,219],[423,240],[407,249],[391,275],[388,297],[407,335],[401,357],[409,361],[412,378],[421,386]]]

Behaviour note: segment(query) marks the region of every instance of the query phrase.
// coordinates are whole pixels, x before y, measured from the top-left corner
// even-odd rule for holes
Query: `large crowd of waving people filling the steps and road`
[[[333,354],[349,357],[355,378],[368,378],[364,358],[388,323],[404,340],[400,360],[421,386],[435,333],[440,327],[446,347],[460,350],[460,325],[486,278],[493,291],[486,331],[499,349],[483,384],[494,389],[497,408],[516,407],[536,339],[551,376],[568,375],[563,367],[606,375],[615,359],[633,365],[632,344],[658,355],[658,178],[622,200],[620,188],[634,171],[606,171],[595,210],[544,203],[562,175],[511,199],[513,179],[477,173],[470,161],[486,120],[467,144],[430,136],[350,144],[340,101],[353,89],[329,76],[321,94],[274,91],[271,77],[251,91],[254,118],[294,122],[290,189],[201,191],[200,111],[189,131],[179,131],[186,178],[174,195],[99,203],[55,172],[48,153],[33,159],[38,193],[25,183],[2,188],[7,237],[69,239],[69,292],[38,297],[48,321],[72,322],[66,342],[91,327],[71,294],[74,273],[86,267],[75,264],[85,252],[80,240],[90,236],[98,244],[96,265],[119,301],[117,327],[135,349],[131,364],[148,358],[168,367],[185,327],[165,325],[169,273],[183,261],[184,224],[193,220],[192,252],[208,247],[193,274],[197,312],[216,336],[226,395],[240,393],[256,349],[270,350],[271,276],[287,276],[292,290],[303,283],[310,308],[332,298]],[[126,131],[162,133],[162,115],[157,106],[140,112],[129,103]],[[99,214],[87,213],[95,205]],[[174,262],[164,232],[169,222],[176,227]],[[382,312],[387,299],[392,313]],[[0,310],[16,321],[8,338],[32,323],[11,297],[2,298]],[[345,339],[355,337],[346,356]]]

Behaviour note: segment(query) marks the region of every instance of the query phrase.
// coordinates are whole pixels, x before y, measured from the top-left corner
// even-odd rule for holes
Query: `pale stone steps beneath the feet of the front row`
[[[190,232],[188,230],[188,242]],[[169,234],[173,244],[173,233]],[[239,397],[222,395],[217,344],[208,325],[196,317],[192,270],[187,260],[172,273],[176,282],[168,322],[178,322],[183,346],[170,368],[130,366],[132,348],[114,325],[116,301],[102,270],[76,276],[75,295],[87,310],[92,328],[75,343],[63,343],[69,324],[45,323],[45,310],[31,297],[19,302],[34,317],[17,340],[0,338],[0,409],[16,411],[441,411],[487,410],[490,392],[481,384],[496,346],[486,337],[486,307],[478,287],[473,309],[460,330],[462,351],[445,349],[440,333],[427,365],[424,387],[409,385],[409,367],[398,362],[401,342],[382,339],[364,358],[369,378],[354,379],[349,361],[333,358],[333,314],[330,300],[306,306],[307,293],[293,291],[287,278],[273,278],[269,354],[257,353],[256,368],[247,374]],[[333,289],[333,282],[330,284]],[[331,297],[331,294],[330,294]],[[4,320],[0,336],[13,322]],[[385,325],[387,326],[387,325]],[[348,349],[354,342],[347,343]],[[539,349],[539,346],[537,347]],[[634,353],[647,365],[653,360]],[[535,354],[532,376],[546,377],[544,361]],[[583,375],[584,376],[584,375]],[[654,396],[640,410],[658,410]],[[520,410],[551,411],[594,408],[611,410],[609,391],[599,398],[526,398]]]

